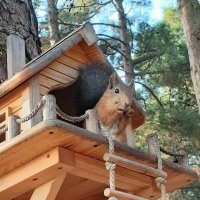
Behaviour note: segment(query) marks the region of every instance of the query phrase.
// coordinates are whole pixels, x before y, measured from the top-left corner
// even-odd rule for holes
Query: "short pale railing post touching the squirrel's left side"
[[[85,126],[88,131],[98,134],[99,127],[98,127],[98,118],[95,109],[87,110],[88,118],[85,121]]]

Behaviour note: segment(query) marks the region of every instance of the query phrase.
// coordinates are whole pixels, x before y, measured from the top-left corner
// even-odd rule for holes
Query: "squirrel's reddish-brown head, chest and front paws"
[[[103,96],[95,106],[101,124],[114,139],[124,142],[125,129],[133,115],[132,88],[124,84],[114,72],[109,78],[109,84]]]

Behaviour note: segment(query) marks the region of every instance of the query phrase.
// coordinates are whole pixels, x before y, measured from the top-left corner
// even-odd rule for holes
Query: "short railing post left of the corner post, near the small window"
[[[8,132],[6,134],[6,141],[9,141],[20,134],[20,124],[16,121],[16,119],[19,118],[20,117],[17,115],[11,115],[8,117]]]

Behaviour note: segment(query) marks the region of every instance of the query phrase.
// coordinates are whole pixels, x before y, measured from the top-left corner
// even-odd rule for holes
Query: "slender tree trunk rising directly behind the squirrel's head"
[[[123,66],[125,70],[125,82],[130,83],[134,79],[133,63],[131,58],[131,47],[130,47],[130,33],[127,29],[127,18],[124,13],[123,0],[115,0],[114,5],[118,12],[119,26],[120,26],[120,40],[121,40],[121,52]],[[135,91],[135,89],[134,89]]]

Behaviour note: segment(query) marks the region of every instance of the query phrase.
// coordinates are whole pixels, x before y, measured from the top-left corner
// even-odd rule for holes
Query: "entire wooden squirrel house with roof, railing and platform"
[[[68,88],[85,64],[108,63],[97,40],[93,28],[84,24],[25,64],[23,40],[9,36],[8,80],[0,85],[0,199],[156,199],[161,196],[157,178],[166,180],[161,186],[167,192],[197,179],[186,165],[161,160],[155,137],[149,139],[148,153],[115,141],[115,152],[110,153],[108,138],[91,128],[91,118],[86,121],[89,130],[57,119],[59,99],[49,91]],[[127,137],[144,121],[135,102]],[[157,168],[157,160],[163,167]],[[105,161],[116,164],[115,174],[114,169],[106,170]]]

